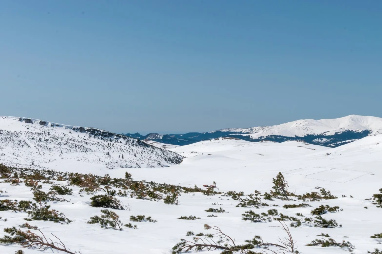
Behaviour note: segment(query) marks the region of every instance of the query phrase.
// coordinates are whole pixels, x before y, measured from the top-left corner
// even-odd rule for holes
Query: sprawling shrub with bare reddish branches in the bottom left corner
[[[1,244],[18,244],[21,245],[23,248],[37,248],[41,249],[42,251],[45,251],[47,249],[55,249],[58,251],[63,251],[69,254],[80,254],[81,252],[72,252],[68,249],[66,249],[65,245],[62,243],[62,241],[55,235],[54,236],[57,241],[52,241],[49,237],[45,237],[45,235],[41,232],[40,229],[37,227],[31,226],[28,223],[25,223],[20,226],[21,228],[27,228],[27,230],[22,231],[20,228],[16,229],[15,227],[12,228],[4,228],[4,232],[9,234],[5,235],[3,238],[0,238]],[[39,233],[31,232],[32,230],[38,231]],[[49,241],[47,240],[49,239]]]

